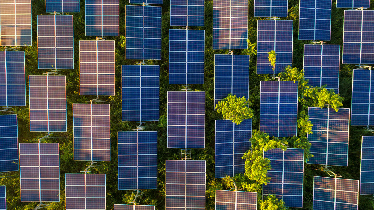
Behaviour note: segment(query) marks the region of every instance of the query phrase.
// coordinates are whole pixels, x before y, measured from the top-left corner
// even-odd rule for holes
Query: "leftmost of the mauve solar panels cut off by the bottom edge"
[[[105,210],[105,174],[65,174],[66,210]]]

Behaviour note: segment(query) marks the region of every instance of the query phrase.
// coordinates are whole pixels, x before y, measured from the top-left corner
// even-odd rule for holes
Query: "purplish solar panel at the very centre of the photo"
[[[168,91],[168,148],[205,148],[205,92]]]

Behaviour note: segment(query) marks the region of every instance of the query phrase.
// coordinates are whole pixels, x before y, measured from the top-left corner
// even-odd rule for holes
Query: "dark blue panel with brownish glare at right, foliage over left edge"
[[[348,166],[349,109],[308,107],[313,134],[309,164]]]

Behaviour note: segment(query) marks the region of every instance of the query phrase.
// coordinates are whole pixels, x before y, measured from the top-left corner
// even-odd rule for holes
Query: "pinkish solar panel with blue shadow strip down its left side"
[[[74,160],[110,161],[110,105],[73,104]]]

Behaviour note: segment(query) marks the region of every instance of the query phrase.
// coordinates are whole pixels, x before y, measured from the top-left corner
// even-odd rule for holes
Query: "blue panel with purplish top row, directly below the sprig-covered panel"
[[[261,81],[260,89],[260,131],[296,136],[298,81]]]

